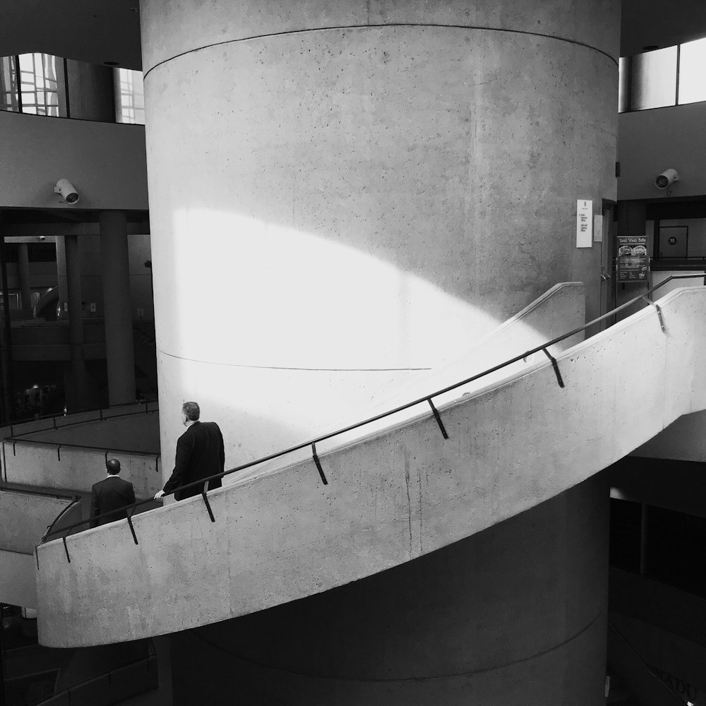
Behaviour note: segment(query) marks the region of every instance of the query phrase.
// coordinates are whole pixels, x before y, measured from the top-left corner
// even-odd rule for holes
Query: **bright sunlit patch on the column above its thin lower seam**
[[[158,342],[179,357],[309,369],[431,367],[498,323],[376,256],[256,218],[177,210],[172,232],[152,237],[155,296],[171,299],[177,313],[160,323]],[[171,272],[159,266],[163,247]]]

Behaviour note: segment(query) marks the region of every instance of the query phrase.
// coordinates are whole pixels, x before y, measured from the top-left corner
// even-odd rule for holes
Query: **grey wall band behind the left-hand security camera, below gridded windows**
[[[0,111],[0,133],[0,207],[148,208],[143,126]],[[54,193],[58,179],[76,187],[76,205]]]

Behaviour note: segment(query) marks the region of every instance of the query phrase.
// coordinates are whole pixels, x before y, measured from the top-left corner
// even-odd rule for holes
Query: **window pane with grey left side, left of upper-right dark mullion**
[[[676,103],[676,47],[635,54],[631,63],[631,109],[661,108]]]

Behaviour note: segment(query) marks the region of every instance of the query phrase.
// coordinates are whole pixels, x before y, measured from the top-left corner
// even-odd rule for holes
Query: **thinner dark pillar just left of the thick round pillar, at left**
[[[71,345],[71,386],[66,390],[66,402],[71,409],[84,409],[88,406],[88,390],[83,359],[83,304],[78,236],[64,236],[64,256],[68,297],[68,337]]]

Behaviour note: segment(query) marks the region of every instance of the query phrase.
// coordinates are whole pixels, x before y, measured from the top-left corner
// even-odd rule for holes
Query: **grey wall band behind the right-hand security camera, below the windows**
[[[618,198],[666,198],[654,177],[672,167],[681,181],[671,196],[703,196],[706,173],[706,102],[677,105],[618,116]]]

